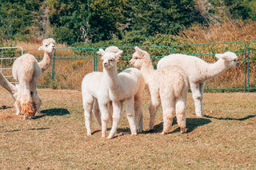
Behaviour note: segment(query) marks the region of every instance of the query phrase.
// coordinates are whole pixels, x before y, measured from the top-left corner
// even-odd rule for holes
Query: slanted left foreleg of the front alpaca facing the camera
[[[110,130],[110,134],[107,137],[108,139],[111,139],[114,137],[114,134],[117,132],[118,129],[118,123],[121,119],[121,113],[122,113],[122,102],[121,101],[113,101],[113,125]],[[136,129],[135,129],[136,131]]]

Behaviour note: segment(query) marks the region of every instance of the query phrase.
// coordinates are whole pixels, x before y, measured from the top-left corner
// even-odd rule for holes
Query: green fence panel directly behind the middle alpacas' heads
[[[134,49],[135,46],[118,46],[118,49],[121,49],[123,51],[122,53],[122,60],[118,62],[118,72],[121,72],[122,70],[129,68],[129,61],[135,52]],[[139,48],[146,50],[151,57],[151,60],[153,62],[154,67],[156,68],[156,65],[158,63],[158,60],[161,57],[164,57],[168,54],[170,54],[170,46],[167,45],[158,45],[158,46],[138,46]],[[106,49],[107,47],[98,47],[98,49]],[[102,62],[98,61],[101,56],[98,56],[96,53],[96,70],[102,71]]]

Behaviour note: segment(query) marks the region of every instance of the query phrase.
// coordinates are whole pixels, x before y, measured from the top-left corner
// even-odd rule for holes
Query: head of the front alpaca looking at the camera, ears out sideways
[[[113,67],[116,67],[117,62],[121,60],[122,50],[119,50],[117,53],[113,53],[99,49],[98,54],[102,55],[103,68],[112,69]]]

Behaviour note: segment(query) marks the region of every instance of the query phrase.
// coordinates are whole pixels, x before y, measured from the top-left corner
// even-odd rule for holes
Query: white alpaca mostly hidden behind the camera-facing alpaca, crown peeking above
[[[105,51],[118,53],[119,49],[116,46],[109,46]],[[102,111],[106,112],[106,114],[103,114],[106,115],[106,117],[102,117],[102,119],[110,119],[110,122],[112,123],[112,103],[108,95],[108,87],[105,85],[105,81],[103,80],[103,73],[88,73],[82,80],[82,104],[84,108],[87,136],[91,136],[92,114],[94,114],[98,125],[102,125],[102,114],[99,110],[98,101],[100,102]],[[104,121],[103,126],[106,127],[106,123],[104,123]],[[102,130],[102,137],[105,136],[106,130]]]

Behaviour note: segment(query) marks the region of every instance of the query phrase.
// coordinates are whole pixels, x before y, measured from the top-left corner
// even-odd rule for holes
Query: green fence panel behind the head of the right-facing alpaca
[[[229,69],[220,76],[206,81],[206,90],[215,91],[245,91],[246,92],[246,44],[244,42],[223,42],[191,45],[174,45],[172,53],[183,53],[198,56],[204,61],[217,61],[215,53],[232,51],[238,55],[241,63],[237,68]]]

